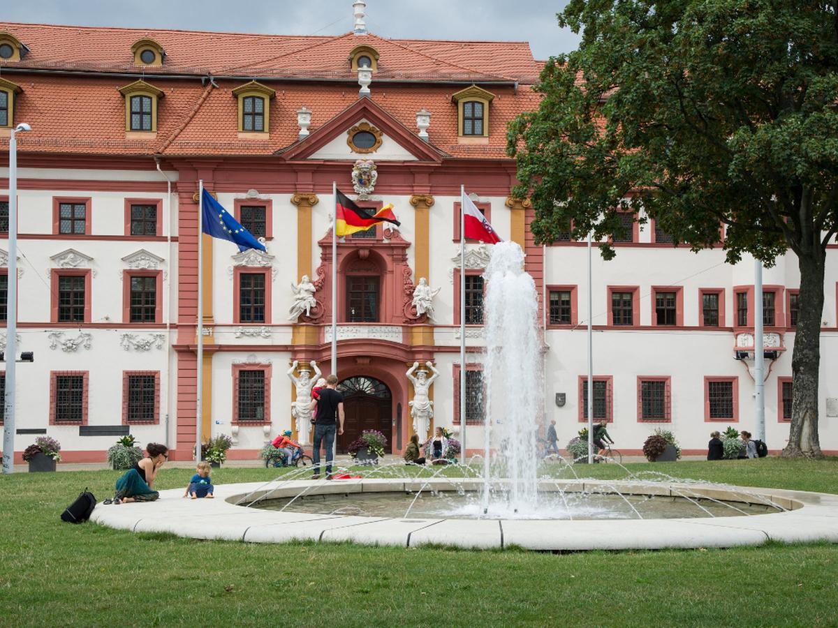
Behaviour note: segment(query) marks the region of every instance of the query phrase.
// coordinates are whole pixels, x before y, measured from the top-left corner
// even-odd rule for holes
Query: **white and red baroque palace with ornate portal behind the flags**
[[[313,361],[328,374],[333,316],[347,395],[339,451],[363,429],[383,431],[388,452],[404,450],[414,362],[440,373],[432,425],[458,430],[463,384],[468,444],[483,442],[490,247],[469,243],[460,267],[461,185],[524,248],[539,287],[545,420],[556,420],[562,444],[583,426],[586,245],[535,245],[532,208],[510,195],[515,162],[505,156],[507,123],[538,106],[543,63],[525,42],[385,39],[355,17],[354,33],[336,37],[0,23],[7,233],[9,131],[32,126],[18,135],[18,347],[34,352],[18,367],[18,461],[44,433],[65,461],[103,461],[126,430],[167,444],[175,460],[193,456],[199,180],[267,249],[240,254],[203,236],[202,430],[230,435],[231,458],[256,457],[282,430],[296,435],[287,373]],[[333,258],[333,181],[362,207],[392,203],[401,228],[340,239]],[[616,260],[593,263],[595,418],[624,453],[657,427],[687,453],[705,451],[711,430],[753,431],[753,260],[731,266],[721,249],[675,247],[654,221],[628,231],[615,237]],[[0,248],[5,267],[7,242]],[[303,275],[316,306],[289,320]],[[832,251],[826,276],[820,437],[835,451]],[[439,289],[432,318],[411,305],[421,278]],[[798,285],[792,255],[765,271],[772,450],[788,437]]]

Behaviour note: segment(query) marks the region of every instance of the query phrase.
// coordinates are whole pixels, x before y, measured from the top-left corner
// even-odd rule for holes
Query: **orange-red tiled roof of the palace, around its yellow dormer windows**
[[[4,78],[23,88],[16,99],[15,120],[33,126],[32,132],[19,138],[22,152],[271,155],[297,142],[300,107],[313,111],[311,130],[315,131],[358,100],[349,51],[359,44],[380,53],[379,72],[370,85],[372,100],[414,133],[416,111],[430,111],[430,142],[452,157],[504,157],[507,123],[522,111],[534,110],[539,101],[529,87],[539,64],[524,43],[0,23],[2,31],[27,44],[30,52],[23,61],[0,64],[0,69],[8,65],[96,70],[96,75],[3,72]],[[147,68],[143,77],[164,92],[159,100],[158,132],[153,139],[127,139],[125,101],[118,88],[133,79],[109,74],[140,73],[142,69],[132,63],[131,45],[145,38],[157,41],[168,54],[163,69]],[[216,78],[217,88],[194,78],[208,72],[242,78]],[[178,73],[192,76],[172,78]],[[242,139],[231,90],[254,75],[289,80],[261,78],[277,90],[270,105],[270,133],[265,139]],[[346,82],[299,80],[317,78]],[[514,81],[521,85],[514,87]],[[496,95],[489,106],[488,144],[458,143],[457,107],[451,95],[463,85],[449,82],[483,83]],[[0,147],[6,144],[8,140],[0,139]]]

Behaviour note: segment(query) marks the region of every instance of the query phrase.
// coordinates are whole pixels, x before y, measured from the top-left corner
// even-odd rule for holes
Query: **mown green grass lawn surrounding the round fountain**
[[[838,459],[628,468],[838,492]],[[190,474],[164,469],[158,487]],[[838,545],[556,555],[194,541],[59,520],[85,486],[108,497],[116,476],[0,477],[0,625],[838,625]]]

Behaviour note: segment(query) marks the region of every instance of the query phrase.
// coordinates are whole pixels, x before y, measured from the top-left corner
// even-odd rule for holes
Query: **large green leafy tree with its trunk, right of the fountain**
[[[608,235],[630,212],[692,250],[721,243],[730,263],[747,253],[771,266],[791,250],[800,308],[784,456],[820,456],[838,0],[571,0],[557,17],[582,43],[546,63],[541,106],[508,137],[536,241],[591,232],[611,259]]]

